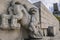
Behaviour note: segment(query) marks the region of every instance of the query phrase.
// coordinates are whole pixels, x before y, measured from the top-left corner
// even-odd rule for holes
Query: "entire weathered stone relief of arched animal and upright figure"
[[[20,29],[20,27],[24,27],[29,30],[30,38],[40,38],[38,8],[32,7],[28,12],[19,2],[12,2],[7,11],[7,14],[2,14],[2,25],[0,28]]]

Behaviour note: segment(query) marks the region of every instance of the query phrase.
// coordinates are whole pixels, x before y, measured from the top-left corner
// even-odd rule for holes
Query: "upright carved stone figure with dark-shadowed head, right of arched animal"
[[[39,33],[39,11],[37,8],[31,8],[30,9],[30,13],[31,13],[31,20],[30,20],[30,37],[31,38],[40,38],[41,34]]]

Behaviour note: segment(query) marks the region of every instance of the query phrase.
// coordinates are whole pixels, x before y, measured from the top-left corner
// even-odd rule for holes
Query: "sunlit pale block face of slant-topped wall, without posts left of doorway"
[[[42,28],[53,27],[54,34],[59,31],[59,21],[43,4],[41,4],[41,23]]]

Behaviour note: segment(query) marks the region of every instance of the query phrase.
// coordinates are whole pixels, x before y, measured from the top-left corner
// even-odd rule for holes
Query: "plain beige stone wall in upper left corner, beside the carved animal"
[[[10,1],[11,0],[0,0],[0,14],[6,13]]]

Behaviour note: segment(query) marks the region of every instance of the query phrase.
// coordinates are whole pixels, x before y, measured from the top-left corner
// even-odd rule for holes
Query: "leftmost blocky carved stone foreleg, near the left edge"
[[[8,23],[9,16],[6,14],[2,14],[2,25],[0,28],[2,29],[9,29],[9,23]]]

